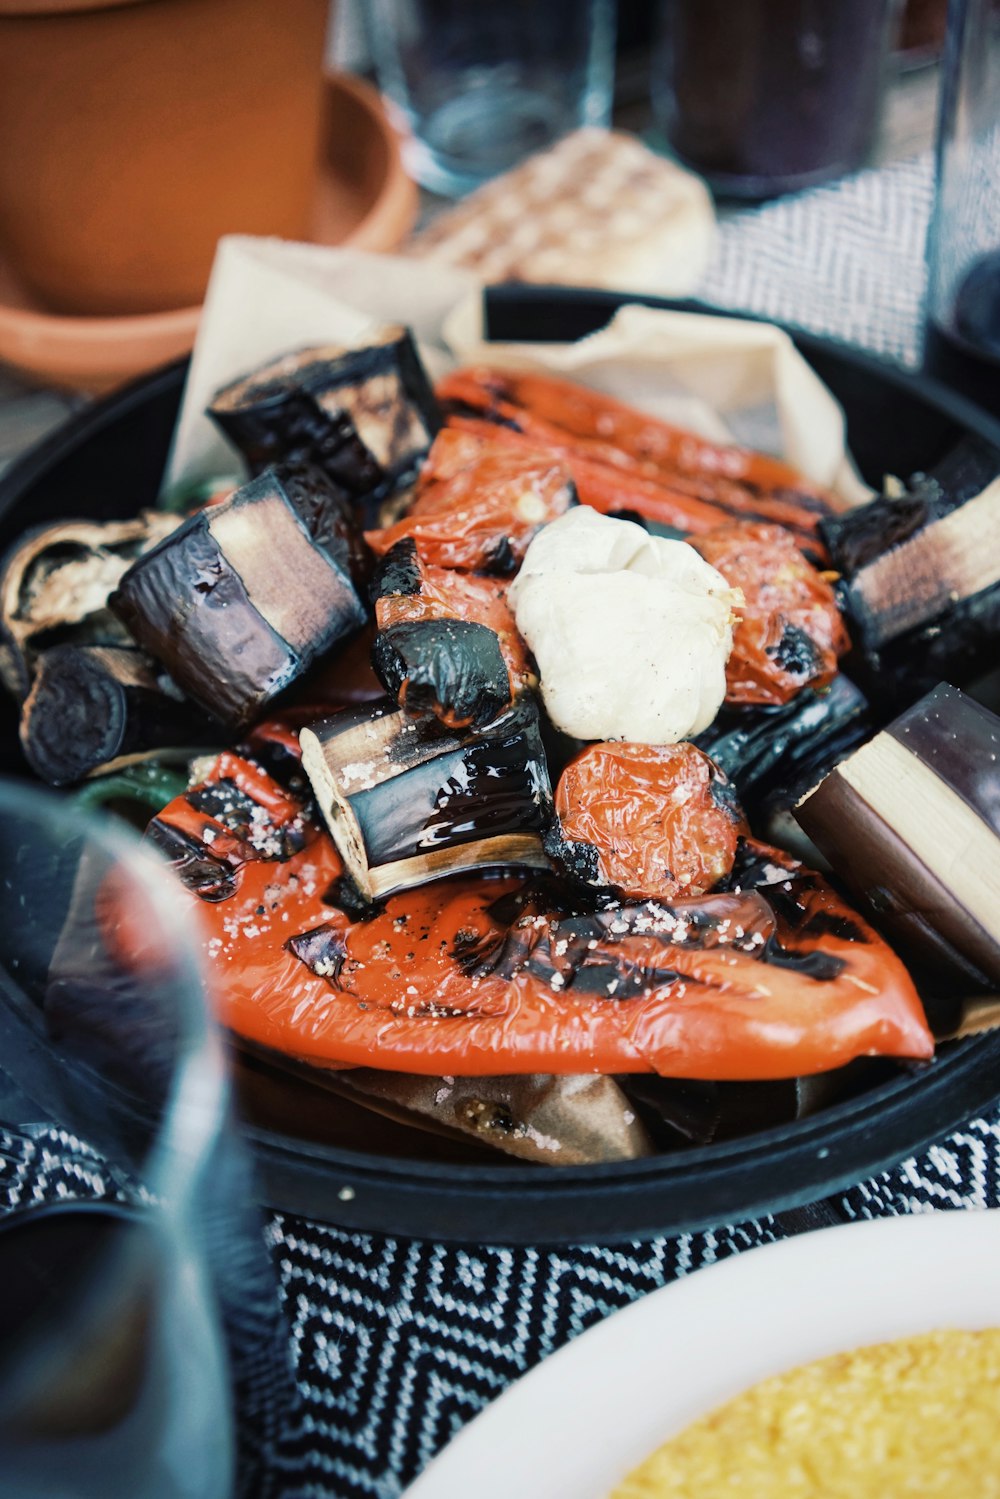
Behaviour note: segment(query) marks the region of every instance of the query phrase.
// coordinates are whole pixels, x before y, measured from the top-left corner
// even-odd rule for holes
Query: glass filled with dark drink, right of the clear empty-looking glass
[[[862,166],[895,0],[660,0],[651,97],[720,196],[772,198]]]

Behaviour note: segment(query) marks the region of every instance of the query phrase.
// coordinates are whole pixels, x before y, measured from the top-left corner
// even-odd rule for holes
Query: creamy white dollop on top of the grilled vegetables
[[[564,733],[667,745],[715,718],[742,594],[685,541],[577,505],[534,538],[508,598]]]

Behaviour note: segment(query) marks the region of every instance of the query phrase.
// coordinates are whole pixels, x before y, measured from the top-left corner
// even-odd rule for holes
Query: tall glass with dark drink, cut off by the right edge
[[[951,0],[927,241],[925,367],[1000,414],[1000,36]]]

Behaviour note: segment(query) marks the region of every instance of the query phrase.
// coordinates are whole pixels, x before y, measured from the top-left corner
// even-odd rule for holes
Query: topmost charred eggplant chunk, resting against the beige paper
[[[324,345],[274,360],[220,390],[208,414],[253,472],[306,460],[348,493],[375,499],[415,471],[439,426],[400,327],[363,348]]]

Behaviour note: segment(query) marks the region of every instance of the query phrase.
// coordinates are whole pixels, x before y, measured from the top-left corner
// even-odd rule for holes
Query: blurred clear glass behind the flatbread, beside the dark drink
[[[615,0],[369,0],[406,169],[459,196],[583,124],[610,124]]]

